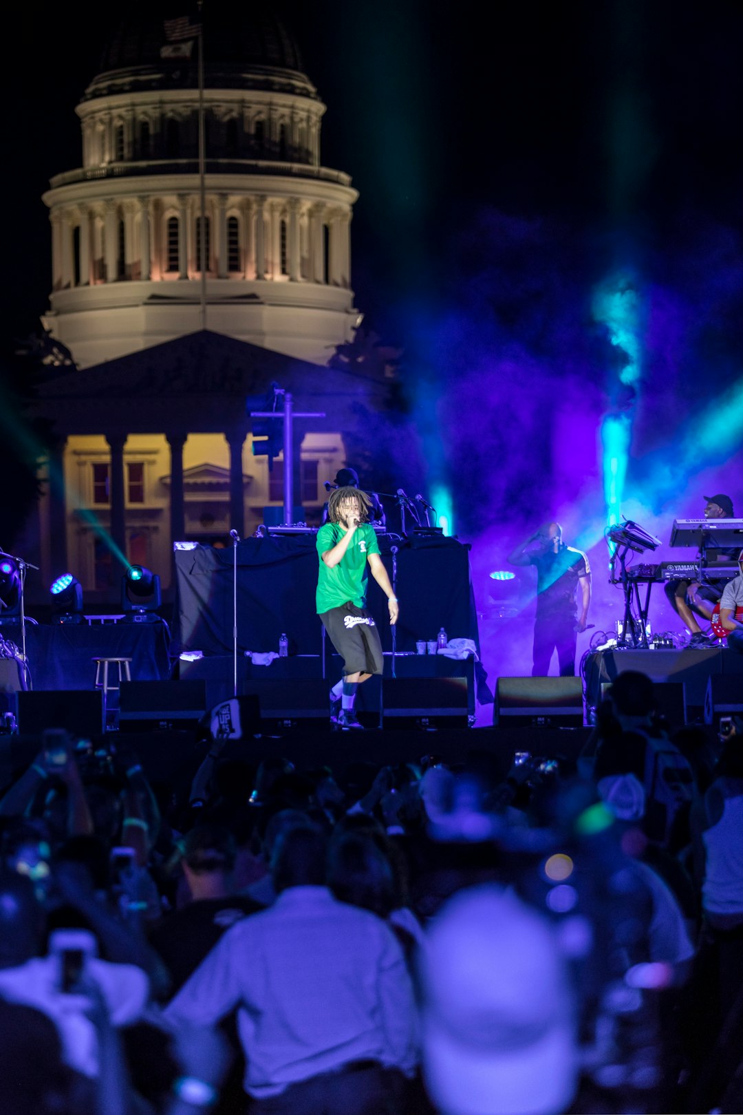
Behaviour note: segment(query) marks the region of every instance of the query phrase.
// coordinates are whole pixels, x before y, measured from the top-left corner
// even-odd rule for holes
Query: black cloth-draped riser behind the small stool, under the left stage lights
[[[20,632],[11,638],[20,646]],[[92,689],[94,658],[130,658],[133,681],[167,678],[168,641],[167,628],[162,622],[26,626],[26,653],[33,689]]]

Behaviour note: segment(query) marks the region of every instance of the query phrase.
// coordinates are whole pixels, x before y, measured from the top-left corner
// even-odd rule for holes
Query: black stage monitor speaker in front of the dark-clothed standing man
[[[580,678],[498,678],[492,723],[511,727],[583,727]]]

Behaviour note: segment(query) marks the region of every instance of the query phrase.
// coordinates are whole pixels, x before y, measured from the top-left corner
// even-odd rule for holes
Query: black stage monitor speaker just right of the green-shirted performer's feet
[[[383,728],[466,728],[467,678],[383,678]]]

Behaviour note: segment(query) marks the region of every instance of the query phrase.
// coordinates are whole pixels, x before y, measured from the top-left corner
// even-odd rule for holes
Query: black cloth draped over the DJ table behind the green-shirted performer
[[[441,535],[381,535],[379,542],[400,600],[397,650],[414,650],[417,640],[436,639],[443,627],[449,639],[472,639],[479,652],[469,546]],[[277,651],[278,638],[286,632],[290,655],[320,655],[314,533],[245,539],[226,550],[196,545],[176,551],[174,649],[232,653],[235,560],[239,653]],[[387,601],[371,574],[369,608],[383,649],[391,650]]]

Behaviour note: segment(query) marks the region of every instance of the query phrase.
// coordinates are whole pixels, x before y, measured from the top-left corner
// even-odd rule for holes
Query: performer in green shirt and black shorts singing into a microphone
[[[381,673],[384,661],[377,624],[365,610],[369,570],[388,598],[390,623],[398,621],[398,600],[366,522],[370,510],[365,492],[336,488],[327,502],[327,522],[317,531],[316,608],[343,658],[343,678],[331,689],[331,719],[342,729],[362,727],[353,711],[356,689],[372,673]]]

